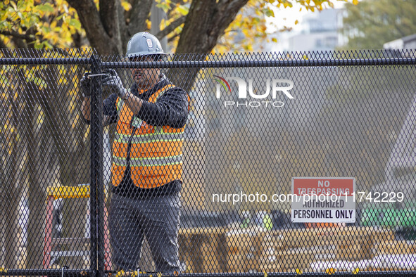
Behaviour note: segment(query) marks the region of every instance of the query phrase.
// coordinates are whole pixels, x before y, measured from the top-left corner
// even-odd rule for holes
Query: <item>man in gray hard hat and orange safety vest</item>
[[[127,44],[131,61],[162,60],[160,42],[148,32]],[[179,271],[177,235],[182,186],[182,145],[189,96],[158,68],[132,68],[134,83],[125,89],[115,70],[102,85],[113,94],[103,101],[103,124],[116,123],[111,167],[113,198],[109,229],[118,271],[136,271],[144,236],[156,271]],[[82,113],[89,120],[88,74],[80,82]]]

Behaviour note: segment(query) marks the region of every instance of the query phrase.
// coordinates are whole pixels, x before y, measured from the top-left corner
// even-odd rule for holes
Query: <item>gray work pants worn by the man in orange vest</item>
[[[146,236],[156,271],[179,272],[180,205],[180,193],[139,200],[113,195],[108,219],[113,264],[136,270]]]

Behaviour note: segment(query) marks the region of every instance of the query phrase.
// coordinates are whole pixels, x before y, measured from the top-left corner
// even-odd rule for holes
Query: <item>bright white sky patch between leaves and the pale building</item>
[[[343,8],[346,3],[345,1],[336,0],[333,0],[332,2],[334,3],[334,8]],[[328,5],[325,6],[329,8]],[[315,12],[306,11],[305,7],[297,3],[294,3],[293,8],[274,8],[274,12],[275,18],[272,18],[270,21],[271,24],[267,27],[267,32],[274,32],[276,30],[276,28],[272,27],[272,25],[276,25],[279,28],[284,26],[291,27],[292,30],[278,33],[277,43],[271,44],[272,51],[284,51],[287,47],[286,43],[288,38],[298,32],[301,32],[303,20],[309,16],[319,13],[319,11],[316,10]],[[298,24],[295,24],[296,20],[298,20]]]

